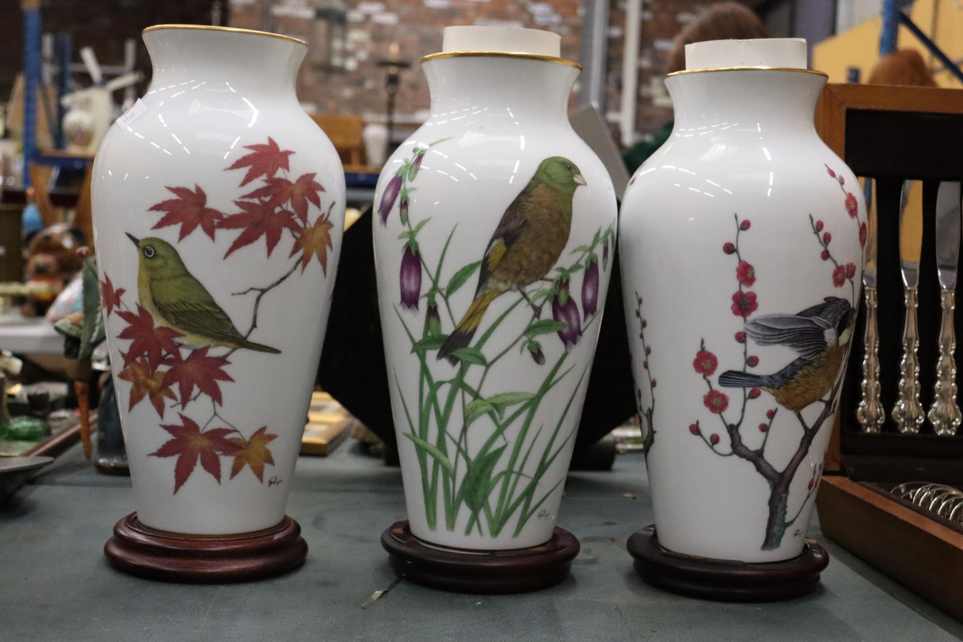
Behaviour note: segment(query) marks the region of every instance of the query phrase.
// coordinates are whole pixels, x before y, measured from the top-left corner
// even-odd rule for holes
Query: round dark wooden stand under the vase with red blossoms
[[[629,538],[636,571],[646,581],[673,593],[704,600],[768,602],[806,595],[820,582],[829,554],[814,540],[806,540],[802,554],[781,562],[747,562],[692,557],[666,551],[659,545],[655,526]]]

